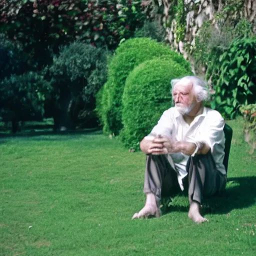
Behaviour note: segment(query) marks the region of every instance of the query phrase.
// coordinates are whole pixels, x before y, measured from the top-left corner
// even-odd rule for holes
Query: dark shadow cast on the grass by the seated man
[[[202,205],[202,214],[225,214],[232,209],[247,208],[256,202],[256,176],[230,177],[221,195],[205,198]],[[186,196],[182,193],[181,196]],[[163,210],[163,214],[169,211],[188,211],[188,206],[173,203]]]

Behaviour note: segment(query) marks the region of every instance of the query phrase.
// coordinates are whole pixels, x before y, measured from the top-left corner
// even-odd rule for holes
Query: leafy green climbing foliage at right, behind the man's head
[[[206,78],[215,92],[211,107],[218,109],[225,118],[235,117],[239,104],[246,100],[253,102],[247,89],[255,84],[255,39],[251,38],[252,24],[246,19],[241,19],[234,27],[219,25],[219,29],[209,21],[204,22],[195,37],[192,56],[197,67],[206,67]]]

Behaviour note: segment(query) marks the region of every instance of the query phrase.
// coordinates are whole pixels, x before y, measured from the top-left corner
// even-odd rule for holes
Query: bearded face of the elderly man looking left
[[[172,98],[176,109],[181,114],[189,113],[196,105],[196,98],[192,90],[193,84],[189,80],[178,81],[172,90]]]

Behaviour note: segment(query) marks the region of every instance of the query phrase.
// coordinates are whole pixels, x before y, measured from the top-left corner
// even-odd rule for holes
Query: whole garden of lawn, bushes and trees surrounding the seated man
[[[253,0],[0,1],[0,255],[254,255]],[[233,129],[209,222],[183,193],[143,205],[139,141],[173,102],[170,80],[207,81]]]

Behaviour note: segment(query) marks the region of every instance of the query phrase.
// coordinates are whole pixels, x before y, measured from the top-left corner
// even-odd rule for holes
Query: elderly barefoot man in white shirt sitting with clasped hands
[[[188,183],[188,217],[200,223],[207,220],[199,210],[202,197],[219,193],[226,184],[224,120],[203,106],[208,90],[199,77],[173,79],[171,87],[175,106],[140,141],[146,154],[146,201],[132,218],[159,217],[161,196],[174,195]]]

